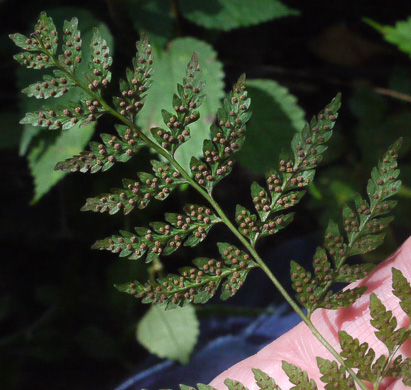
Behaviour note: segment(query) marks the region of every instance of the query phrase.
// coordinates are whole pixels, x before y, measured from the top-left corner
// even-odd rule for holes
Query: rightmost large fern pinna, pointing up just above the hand
[[[325,232],[326,250],[317,249],[313,262],[315,276],[310,279],[309,285],[301,284],[301,277],[295,272],[298,265],[294,265],[292,278],[299,285],[295,282],[293,287],[299,301],[308,309],[309,316],[316,308],[348,307],[365,292],[366,288],[361,287],[332,294],[329,288],[335,282],[351,283],[360,280],[374,268],[371,264],[349,266],[344,263],[348,257],[376,249],[384,240],[385,230],[393,219],[385,214],[395,206],[395,201],[388,198],[395,195],[401,187],[401,182],[397,180],[399,170],[396,169],[400,145],[401,139],[389,148],[378,163],[378,168],[372,170],[367,186],[369,201],[357,195],[356,210],[344,206],[343,220],[347,239],[341,234],[338,225],[330,221]],[[305,270],[303,273],[305,274]]]

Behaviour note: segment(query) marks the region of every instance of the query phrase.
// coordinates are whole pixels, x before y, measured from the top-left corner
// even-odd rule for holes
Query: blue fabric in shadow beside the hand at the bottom
[[[169,361],[153,364],[115,390],[178,389],[180,383],[191,386],[208,383],[222,371],[257,353],[299,321],[295,313],[284,314],[284,306],[276,314],[264,314],[258,318],[230,317],[202,321],[202,336],[196,348],[198,352],[188,365]],[[219,335],[207,341],[211,334]]]

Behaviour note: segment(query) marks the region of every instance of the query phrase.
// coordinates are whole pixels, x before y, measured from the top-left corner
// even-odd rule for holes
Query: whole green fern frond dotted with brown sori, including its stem
[[[158,261],[177,251],[181,246],[196,246],[203,241],[217,223],[222,223],[236,236],[242,247],[231,243],[218,243],[219,257],[196,258],[192,266],[179,270],[178,274],[150,280],[147,283],[132,281],[117,286],[120,291],[139,298],[144,303],[172,309],[189,303],[205,303],[217,291],[225,300],[233,296],[245,282],[253,268],[261,268],[280,290],[285,299],[313,334],[332,353],[335,361],[318,358],[317,364],[326,389],[348,389],[357,384],[368,389],[364,381],[377,389],[385,377],[401,378],[411,385],[409,358],[398,355],[398,349],[410,338],[410,328],[398,328],[397,320],[387,311],[377,296],[371,296],[371,324],[376,337],[387,347],[387,356],[375,356],[366,343],[360,344],[345,332],[340,332],[341,354],[324,340],[314,327],[310,317],[317,308],[338,309],[349,307],[364,294],[366,288],[346,289],[334,292],[334,283],[349,283],[364,278],[372,270],[370,264],[349,265],[348,257],[363,254],[379,246],[392,217],[387,216],[395,206],[390,197],[401,186],[397,180],[397,141],[384,155],[371,173],[367,186],[368,200],[358,196],[355,207],[343,210],[342,234],[338,224],[330,222],[325,233],[324,247],[314,255],[313,272],[291,263],[291,278],[296,291],[296,301],[284,290],[278,279],[258,255],[255,246],[259,239],[284,229],[293,220],[290,211],[305,194],[305,188],[313,181],[315,170],[327,149],[333,127],[338,117],[341,97],[338,95],[310,123],[297,132],[292,140],[291,154],[281,156],[276,170],[267,172],[266,183],[253,183],[251,197],[255,211],[238,205],[235,222],[227,217],[213,197],[213,189],[232,170],[234,154],[245,142],[247,122],[251,117],[250,98],[246,79],[241,76],[232,91],[224,99],[211,125],[211,138],[203,143],[203,157],[192,157],[190,169],[184,169],[175,159],[177,149],[190,139],[190,125],[198,121],[200,108],[206,95],[205,82],[196,54],[187,65],[181,84],[172,97],[174,112],[162,111],[164,125],[141,129],[136,117],[144,108],[146,96],[152,85],[155,64],[148,38],[137,42],[137,55],[132,66],[120,81],[118,96],[112,104],[104,97],[111,80],[112,57],[107,42],[98,29],[91,39],[91,58],[82,57],[82,39],[78,21],[66,21],[60,40],[53,20],[45,13],[40,15],[30,36],[13,34],[14,43],[23,51],[14,58],[31,69],[52,68],[50,75],[28,86],[23,93],[37,99],[59,98],[77,89],[81,98],[57,109],[47,106],[29,112],[22,124],[39,126],[48,130],[70,130],[76,124],[98,120],[102,115],[112,115],[118,120],[115,132],[102,134],[101,142],[91,142],[89,150],[62,161],[56,170],[71,172],[104,172],[116,163],[125,163],[141,148],[150,148],[157,155],[151,161],[152,172],[140,172],[137,177],[124,179],[122,188],[87,199],[84,211],[130,213],[135,207],[145,208],[153,199],[164,200],[182,184],[192,186],[204,198],[204,204],[188,204],[184,211],[167,213],[163,221],[152,222],[134,231],[121,231],[94,244],[94,248],[118,253],[131,260],[144,258],[147,263]],[[88,72],[79,74],[78,64],[88,61]],[[410,316],[411,288],[398,270],[393,270],[393,290],[403,310]],[[302,305],[307,314],[305,314]],[[293,389],[316,389],[317,384],[307,373],[293,364],[283,362],[283,369]],[[255,369],[257,385],[261,389],[279,389],[273,378]],[[227,380],[227,387],[244,389],[236,381]],[[198,385],[199,389],[211,389]],[[181,386],[182,390],[191,389]]]

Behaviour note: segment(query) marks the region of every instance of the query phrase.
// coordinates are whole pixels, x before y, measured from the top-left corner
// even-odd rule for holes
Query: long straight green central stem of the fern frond
[[[41,42],[39,37],[37,37],[38,41]],[[132,128],[138,134],[140,135],[141,139],[146,142],[146,144],[154,149],[158,154],[163,156],[167,161],[170,162],[170,164],[187,180],[187,182],[197,191],[199,192],[215,209],[219,217],[222,219],[224,224],[231,230],[231,232],[241,241],[241,243],[244,245],[245,248],[249,251],[249,253],[254,257],[254,260],[256,261],[257,265],[267,274],[269,279],[273,282],[275,287],[279,290],[281,295],[285,298],[285,300],[290,304],[290,306],[295,310],[295,312],[301,317],[302,321],[309,327],[311,332],[314,334],[314,336],[321,342],[321,344],[324,345],[324,347],[335,357],[335,359],[343,366],[346,368],[346,370],[349,372],[351,377],[358,383],[359,387],[363,390],[368,390],[368,387],[356,376],[354,371],[347,367],[345,365],[344,360],[342,357],[338,354],[338,352],[328,343],[327,340],[324,339],[324,337],[321,335],[321,333],[315,328],[314,324],[312,321],[305,315],[305,313],[301,310],[301,308],[298,306],[298,304],[293,300],[293,298],[287,293],[287,291],[284,289],[284,287],[281,285],[279,280],[273,275],[271,270],[267,267],[267,265],[264,263],[264,261],[261,259],[261,257],[258,255],[254,247],[250,244],[250,242],[237,230],[237,228],[232,224],[230,219],[227,217],[227,215],[224,213],[224,211],[221,209],[219,204],[213,199],[210,193],[205,191],[191,176],[186,170],[174,159],[173,156],[171,156],[166,150],[164,150],[161,146],[157,145],[154,141],[152,141],[150,138],[147,137],[143,132],[141,132],[137,126],[131,122],[129,119],[118,113],[114,108],[112,108],[100,95],[94,93],[91,91],[84,83],[82,83],[75,75],[73,72],[68,70],[66,67],[64,67],[58,60],[57,58],[52,55],[47,49],[44,48],[42,43],[40,43],[42,46],[43,51],[45,54],[47,54],[50,58],[52,58],[53,62],[56,64],[56,66],[63,70],[68,77],[82,90],[84,90],[87,94],[93,97],[93,99],[97,100],[104,109],[113,115],[114,117],[118,118],[120,121],[122,121],[124,124],[126,124],[128,127]]]

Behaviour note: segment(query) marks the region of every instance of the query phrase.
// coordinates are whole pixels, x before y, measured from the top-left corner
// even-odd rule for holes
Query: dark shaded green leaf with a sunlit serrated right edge
[[[253,120],[237,160],[253,172],[264,173],[273,166],[273,156],[289,147],[294,133],[302,130],[305,114],[296,97],[274,80],[248,80],[247,88]]]

